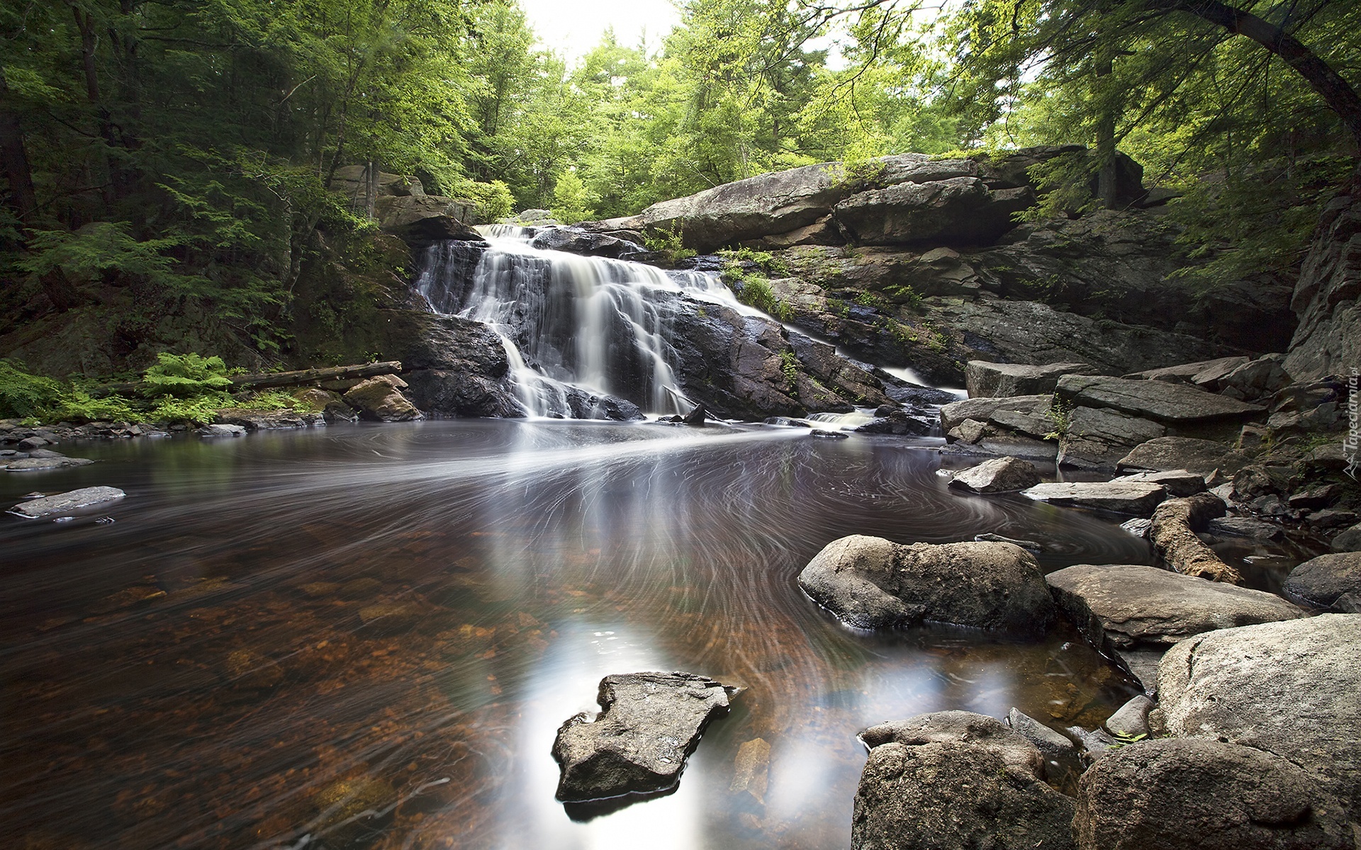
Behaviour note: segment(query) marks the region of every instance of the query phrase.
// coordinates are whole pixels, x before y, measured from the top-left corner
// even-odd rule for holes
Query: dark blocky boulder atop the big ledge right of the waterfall
[[[989,190],[977,177],[950,177],[852,194],[832,219],[862,245],[987,245],[1015,227],[1013,214],[1032,204],[1028,188]]]

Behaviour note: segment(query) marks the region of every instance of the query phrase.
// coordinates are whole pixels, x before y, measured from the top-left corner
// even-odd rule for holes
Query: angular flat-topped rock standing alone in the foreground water
[[[578,802],[652,794],[680,781],[705,726],[728,713],[735,688],[694,673],[625,673],[600,680],[595,721],[558,729],[558,800]]]

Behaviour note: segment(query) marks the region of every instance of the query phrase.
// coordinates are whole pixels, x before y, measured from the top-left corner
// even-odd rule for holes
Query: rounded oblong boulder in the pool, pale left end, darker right
[[[1034,556],[1009,543],[900,545],[852,534],[823,547],[799,586],[856,628],[924,619],[1026,638],[1044,635],[1056,612]]]

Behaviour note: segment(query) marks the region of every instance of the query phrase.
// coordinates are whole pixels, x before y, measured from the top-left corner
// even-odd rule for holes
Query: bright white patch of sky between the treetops
[[[671,0],[520,0],[529,26],[544,46],[574,61],[600,44],[612,26],[622,45],[637,45],[646,30],[648,46],[656,48],[680,15]]]

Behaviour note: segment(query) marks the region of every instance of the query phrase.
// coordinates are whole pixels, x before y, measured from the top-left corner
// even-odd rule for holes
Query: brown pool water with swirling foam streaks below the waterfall
[[[795,577],[848,533],[996,532],[1045,568],[1147,563],[1113,521],[962,498],[930,441],[434,422],[93,443],[0,496],[0,835],[84,847],[833,847],[855,734],[942,709],[1096,725],[1128,684],[1071,634],[840,627]],[[675,794],[576,823],[558,725],[607,673],[749,688]],[[762,738],[766,789],[732,790]],[[764,752],[761,747],[747,752]]]

